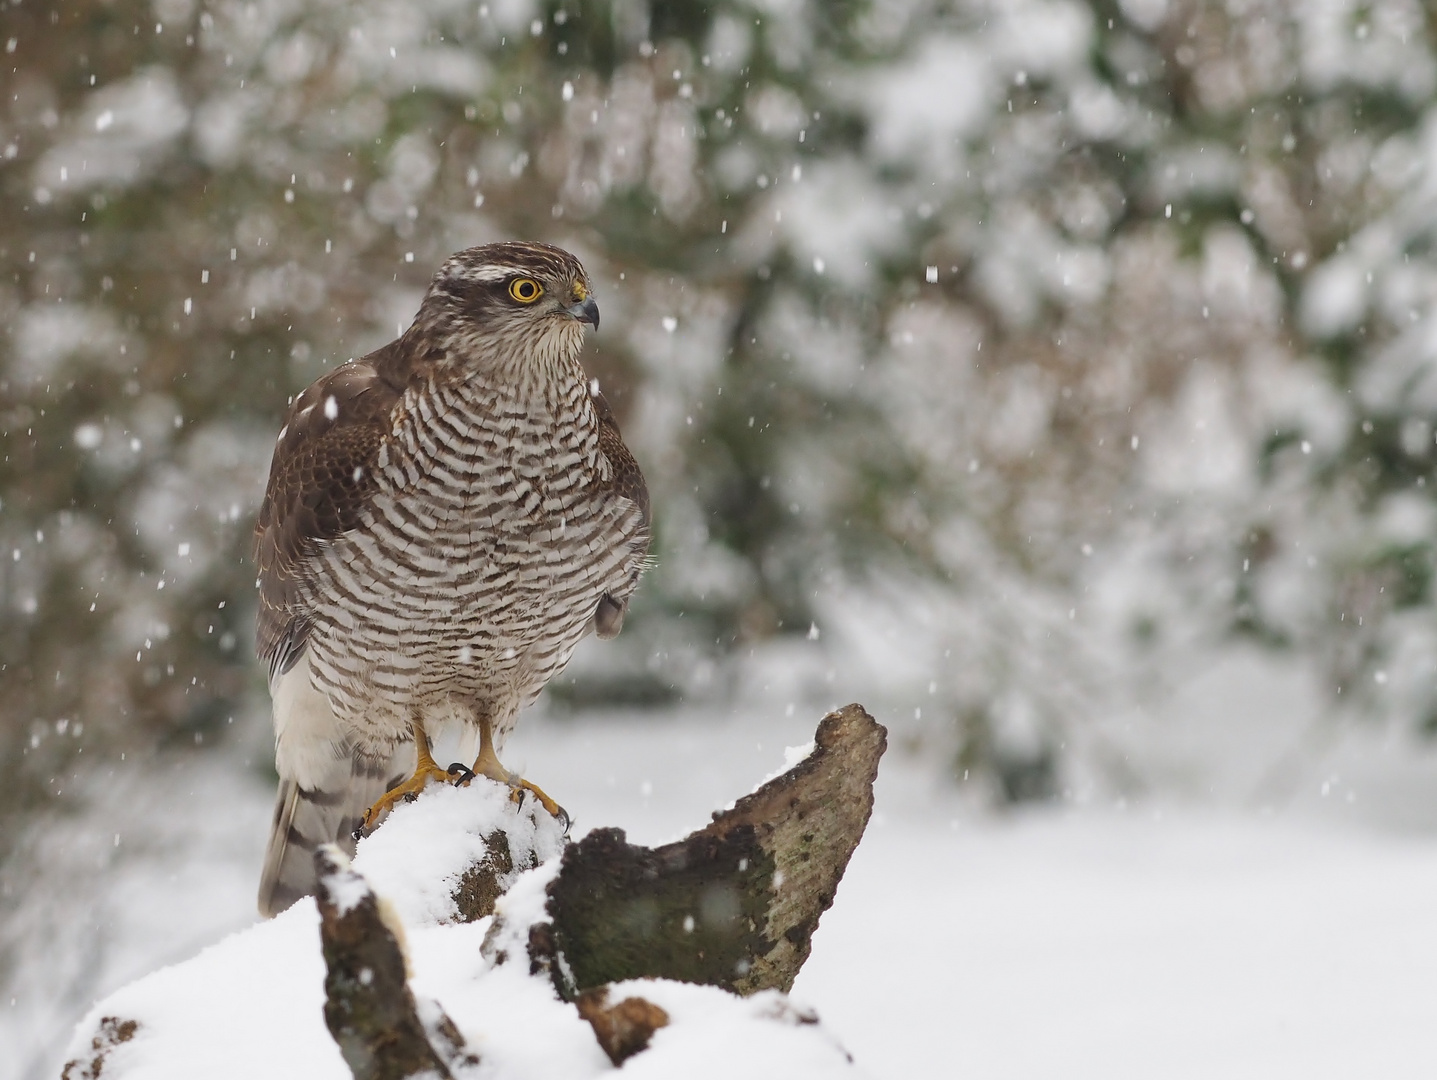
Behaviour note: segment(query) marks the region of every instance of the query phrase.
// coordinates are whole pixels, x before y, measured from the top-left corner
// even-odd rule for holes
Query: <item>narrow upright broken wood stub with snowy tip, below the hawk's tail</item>
[[[450,1066],[479,1064],[435,1007],[427,1027],[410,992],[404,931],[333,844],[315,853],[319,941],[325,954],[325,1024],[355,1080],[451,1080]],[[438,1041],[444,1054],[438,1054]]]

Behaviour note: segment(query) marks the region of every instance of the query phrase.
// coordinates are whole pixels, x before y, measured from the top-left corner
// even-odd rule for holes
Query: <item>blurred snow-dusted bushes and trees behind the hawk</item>
[[[286,401],[502,237],[599,283],[658,514],[556,697],[782,668],[1009,799],[1242,638],[1437,728],[1418,0],[0,0],[0,43],[7,837],[266,738]]]

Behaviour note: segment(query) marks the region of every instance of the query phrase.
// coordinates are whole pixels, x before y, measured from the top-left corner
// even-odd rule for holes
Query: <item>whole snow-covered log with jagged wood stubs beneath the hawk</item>
[[[764,1076],[849,1076],[780,991],[868,823],[885,738],[861,707],[838,709],[787,771],[657,849],[612,829],[565,846],[500,784],[425,791],[352,866],[318,853],[318,902],[96,1005],[66,1077],[588,1077],[625,1063],[700,1079],[756,1074],[754,1054]]]

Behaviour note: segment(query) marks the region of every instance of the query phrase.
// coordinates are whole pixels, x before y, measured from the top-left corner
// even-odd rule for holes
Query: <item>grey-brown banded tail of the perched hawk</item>
[[[348,776],[335,776],[335,783],[315,790],[280,777],[274,824],[260,875],[260,913],[266,918],[279,915],[302,896],[313,895],[318,847],[336,843],[352,856],[354,833],[365,810],[404,776],[404,770],[395,776],[388,760],[375,761],[354,754]]]

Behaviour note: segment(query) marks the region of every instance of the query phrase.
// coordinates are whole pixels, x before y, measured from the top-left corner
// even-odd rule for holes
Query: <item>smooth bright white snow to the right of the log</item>
[[[877,1076],[1437,1076],[1431,840],[1114,813],[874,839],[795,992]]]

